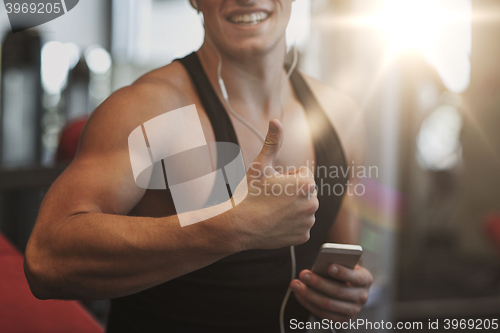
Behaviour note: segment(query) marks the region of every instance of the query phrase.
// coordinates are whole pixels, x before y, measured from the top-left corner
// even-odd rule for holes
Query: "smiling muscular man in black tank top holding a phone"
[[[305,166],[362,162],[359,112],[348,99],[295,73],[284,86],[283,124],[269,121],[280,113],[291,0],[191,3],[204,18],[200,50],[108,98],[88,121],[77,156],[48,191],[26,249],[33,294],[113,298],[109,332],[276,332],[288,286],[295,295],[288,319],[307,319],[309,312],[334,321],[353,318],[367,300],[370,273],[359,265],[332,265],[333,280],[310,268],[322,242],[357,242],[359,227],[347,211],[354,197],[318,194],[315,223],[316,192],[298,189],[319,180]],[[267,132],[264,144],[220,102],[217,52],[233,109]],[[235,208],[180,227],[168,191],[135,184],[127,138],[144,122],[192,104],[206,141],[238,143],[247,178],[258,181]],[[256,167],[250,168],[252,161]],[[280,175],[273,167],[304,172]],[[273,185],[297,191],[264,191]],[[290,283],[293,245],[300,275]]]

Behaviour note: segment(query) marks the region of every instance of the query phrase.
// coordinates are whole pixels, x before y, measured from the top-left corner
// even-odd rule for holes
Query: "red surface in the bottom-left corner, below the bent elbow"
[[[76,301],[41,301],[31,293],[23,256],[0,234],[0,332],[102,333]]]

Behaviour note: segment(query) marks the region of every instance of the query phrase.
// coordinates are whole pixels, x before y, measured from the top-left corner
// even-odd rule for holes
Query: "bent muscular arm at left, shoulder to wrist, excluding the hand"
[[[176,216],[126,216],[144,194],[134,183],[127,138],[159,107],[148,102],[158,100],[151,90],[125,88],[96,110],[76,158],[45,196],[25,256],[36,297],[123,296],[240,250],[228,227],[233,211],[184,228]]]

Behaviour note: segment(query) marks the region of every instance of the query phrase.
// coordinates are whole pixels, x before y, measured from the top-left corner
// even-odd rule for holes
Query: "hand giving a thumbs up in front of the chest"
[[[260,154],[247,172],[248,195],[235,207],[238,232],[247,249],[276,249],[309,240],[319,202],[314,175],[307,167],[280,174],[274,161],[283,127],[273,119]]]

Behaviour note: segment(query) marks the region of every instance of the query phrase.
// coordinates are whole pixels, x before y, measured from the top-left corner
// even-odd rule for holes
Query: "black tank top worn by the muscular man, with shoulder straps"
[[[238,144],[231,120],[197,54],[191,53],[179,61],[196,87],[217,142]],[[342,195],[335,195],[334,191],[340,193],[340,186],[345,188],[347,179],[342,172],[331,174],[335,168],[345,168],[346,160],[329,119],[298,71],[291,75],[291,82],[306,110],[320,187],[320,206],[311,237],[295,247],[298,274],[312,267],[325,242],[342,201]],[[239,252],[156,287],[113,299],[107,332],[277,333],[290,274],[288,247]],[[289,327],[292,318],[306,321],[308,316],[292,294],[286,307],[285,326]]]

